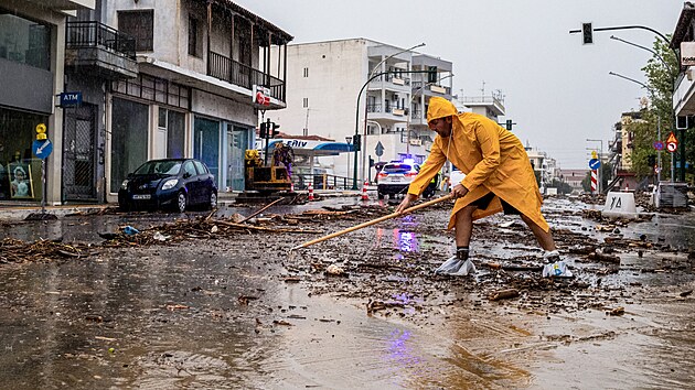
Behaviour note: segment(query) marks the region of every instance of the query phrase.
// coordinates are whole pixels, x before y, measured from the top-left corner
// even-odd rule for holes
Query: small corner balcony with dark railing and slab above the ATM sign
[[[67,22],[65,66],[93,68],[108,79],[138,75],[135,39],[96,21]]]

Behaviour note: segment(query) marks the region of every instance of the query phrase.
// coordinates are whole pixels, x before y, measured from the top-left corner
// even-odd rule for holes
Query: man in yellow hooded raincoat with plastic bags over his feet
[[[474,272],[469,260],[473,220],[504,212],[520,215],[545,250],[544,259],[553,264],[547,270],[544,268],[544,275],[570,275],[541,214],[543,197],[528,155],[516,136],[487,117],[459,113],[453,104],[440,97],[429,100],[427,121],[437,132],[435,143],[396,212],[405,210],[417,199],[447,159],[466,173],[461,183],[451,183],[457,201],[448,228],[456,227],[457,256],[445,262],[438,273]]]

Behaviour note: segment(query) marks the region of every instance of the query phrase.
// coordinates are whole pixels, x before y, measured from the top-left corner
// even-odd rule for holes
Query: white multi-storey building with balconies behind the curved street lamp
[[[360,134],[356,159],[350,153],[322,164],[340,176],[356,171],[360,181],[373,178],[370,159],[426,159],[428,101],[451,99],[451,62],[366,39],[288,45],[287,108],[266,115],[290,134],[349,142]]]

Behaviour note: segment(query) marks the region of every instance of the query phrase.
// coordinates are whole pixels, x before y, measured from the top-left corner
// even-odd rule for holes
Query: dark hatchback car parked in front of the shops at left
[[[120,185],[121,209],[171,208],[183,213],[189,206],[217,207],[217,184],[207,166],[194,159],[150,160]]]

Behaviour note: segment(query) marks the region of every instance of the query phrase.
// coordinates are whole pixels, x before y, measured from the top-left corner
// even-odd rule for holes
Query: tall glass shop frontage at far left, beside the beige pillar
[[[0,201],[42,198],[41,160],[31,147],[53,110],[52,29],[0,8]]]

